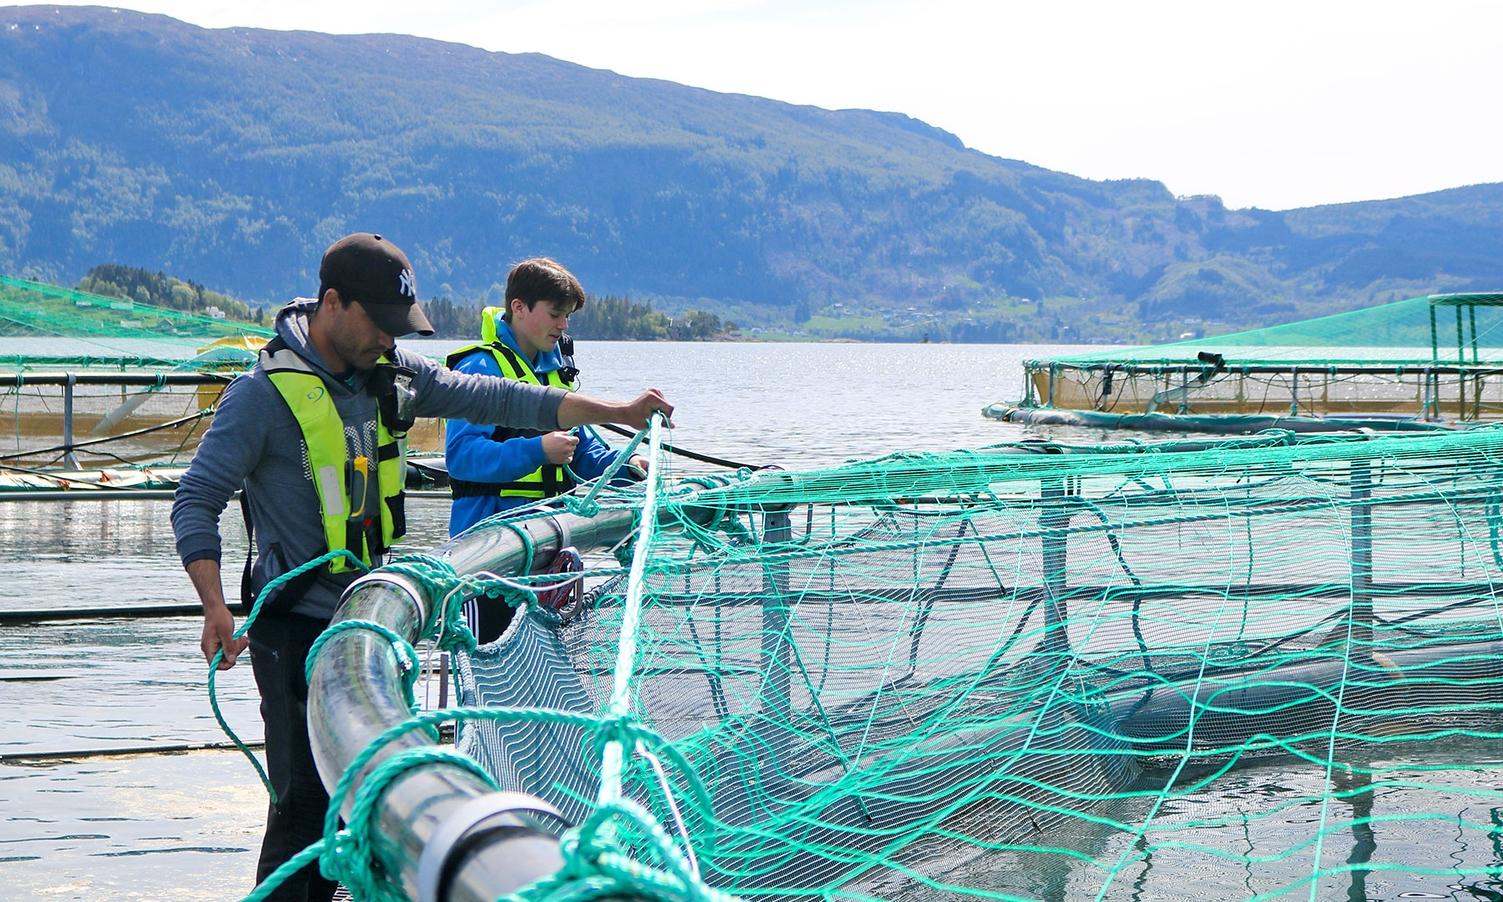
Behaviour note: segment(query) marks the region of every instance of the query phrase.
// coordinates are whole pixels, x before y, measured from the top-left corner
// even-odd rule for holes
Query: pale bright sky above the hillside
[[[906,113],[1090,179],[1288,209],[1503,182],[1497,0],[140,0]]]

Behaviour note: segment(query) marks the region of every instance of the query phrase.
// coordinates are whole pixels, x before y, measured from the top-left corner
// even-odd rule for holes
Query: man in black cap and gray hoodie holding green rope
[[[407,256],[371,233],[329,247],[319,268],[319,298],[277,314],[277,337],[256,367],[219,398],[173,501],[177,553],[203,603],[206,660],[224,651],[234,666],[246,640],[219,579],[219,514],[242,489],[257,555],[240,583],[254,598],[278,576],[334,550],[379,565],[406,532],[403,442],[416,416],[452,416],[552,431],[583,424],[642,427],[673,407],[657,389],[633,401],[454,373],[401,350],[397,335],[431,335],[418,307]],[[343,559],[284,583],[249,633],[251,667],[266,722],[269,807],[257,881],[323,833],[329,797],[308,747],[304,663],[359,568]],[[329,899],[334,885],[311,864],[272,899]]]

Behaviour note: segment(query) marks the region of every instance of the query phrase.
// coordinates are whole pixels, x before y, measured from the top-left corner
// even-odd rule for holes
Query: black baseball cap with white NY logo
[[[418,307],[418,281],[407,254],[379,235],[356,232],[329,245],[319,265],[319,284],[344,301],[358,301],[388,335],[433,334],[433,323]]]

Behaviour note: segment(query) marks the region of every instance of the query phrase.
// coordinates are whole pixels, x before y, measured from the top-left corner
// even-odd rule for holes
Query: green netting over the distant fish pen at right
[[[1500,419],[1503,293],[1429,295],[1231,335],[1031,359],[1024,371],[1022,410],[1079,410],[1103,425],[1109,418],[1090,415],[1344,418],[1363,427]]]

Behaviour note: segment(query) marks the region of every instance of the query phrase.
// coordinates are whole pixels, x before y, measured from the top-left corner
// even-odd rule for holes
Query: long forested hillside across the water
[[[1503,185],[1228,210],[897,113],[404,36],[0,9],[0,272],[125,263],[272,304],[361,229],[409,251],[424,296],[496,302],[547,254],[592,293],[753,335],[1162,338],[1503,286]]]

